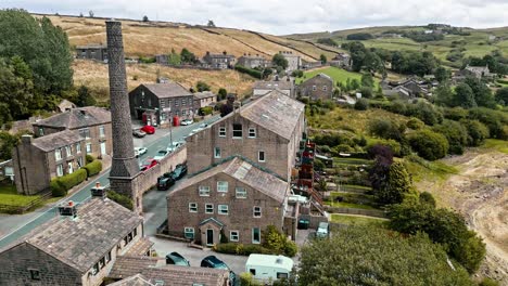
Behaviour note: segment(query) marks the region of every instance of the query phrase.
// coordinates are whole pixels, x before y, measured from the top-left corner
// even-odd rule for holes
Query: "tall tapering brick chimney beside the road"
[[[118,21],[106,21],[106,37],[113,133],[113,159],[110,171],[110,184],[113,191],[132,198],[135,207],[140,209],[141,204],[135,183],[135,178],[139,174],[139,165],[134,153],[122,23]]]

